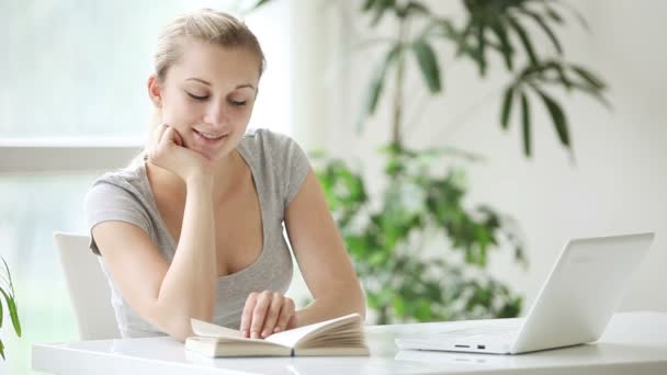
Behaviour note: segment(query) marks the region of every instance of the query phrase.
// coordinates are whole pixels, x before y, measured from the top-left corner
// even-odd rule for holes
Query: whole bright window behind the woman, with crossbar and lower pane
[[[0,254],[12,271],[23,326],[22,339],[3,327],[8,362],[0,372],[29,374],[32,342],[77,339],[52,232],[86,232],[90,183],[144,144],[151,111],[146,79],[160,27],[183,11],[244,3],[0,2]],[[250,126],[291,134],[287,5],[270,4],[246,22],[268,60]]]

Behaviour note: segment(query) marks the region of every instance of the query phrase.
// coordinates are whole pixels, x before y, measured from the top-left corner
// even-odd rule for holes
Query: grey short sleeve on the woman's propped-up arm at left
[[[100,255],[92,228],[103,221],[125,221],[150,235],[150,219],[142,203],[127,190],[113,183],[95,182],[84,201],[86,223],[90,235],[90,250]]]

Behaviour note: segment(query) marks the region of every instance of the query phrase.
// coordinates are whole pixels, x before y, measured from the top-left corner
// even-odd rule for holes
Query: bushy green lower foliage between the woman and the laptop
[[[484,273],[488,250],[507,240],[525,264],[511,220],[488,206],[464,207],[467,188],[461,170],[432,172],[451,149],[385,148],[389,185],[380,204],[366,193],[362,174],[341,159],[314,154],[319,181],[340,228],[377,323],[515,317],[522,298]],[[438,251],[434,243],[459,253]]]

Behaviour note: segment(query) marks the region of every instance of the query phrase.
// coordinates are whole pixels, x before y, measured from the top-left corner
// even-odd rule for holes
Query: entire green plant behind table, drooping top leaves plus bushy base
[[[371,27],[389,16],[396,25],[392,29],[395,35],[360,44],[360,49],[384,47],[361,106],[360,130],[376,112],[389,87],[387,81],[393,81],[391,144],[382,148],[386,158],[384,192],[370,197],[360,168],[323,151],[313,155],[327,202],[378,323],[513,317],[522,306],[520,296],[485,272],[488,251],[496,248],[511,247],[516,262],[527,264],[517,224],[487,205],[468,208],[465,173],[460,167],[448,167],[478,158],[446,147],[417,150],[404,144],[402,127],[406,125],[404,109],[408,102],[405,79],[410,64],[416,65],[426,90],[437,99],[444,80],[437,52],[443,44],[453,46],[455,60],[472,61],[481,79],[489,70],[491,55],[497,54],[511,77],[501,95],[499,123],[507,129],[512,110],[519,107],[527,157],[533,151],[531,109],[535,99],[545,106],[561,144],[572,150],[565,111],[549,90],[579,91],[608,104],[602,80],[563,59],[563,46],[554,32],[554,26],[565,24],[563,10],[572,11],[586,26],[566,3],[462,3],[465,20],[460,26],[452,18],[436,15],[420,1],[361,3],[360,12],[370,15]],[[544,34],[554,54],[543,57],[534,47],[527,22]],[[434,252],[437,248],[451,251]],[[427,254],[429,250],[431,255]]]

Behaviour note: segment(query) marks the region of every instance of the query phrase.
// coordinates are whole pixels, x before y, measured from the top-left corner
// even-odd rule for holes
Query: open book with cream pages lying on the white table
[[[244,338],[240,331],[192,319],[195,336],[185,349],[208,356],[369,355],[359,314],[273,333],[265,339]]]

